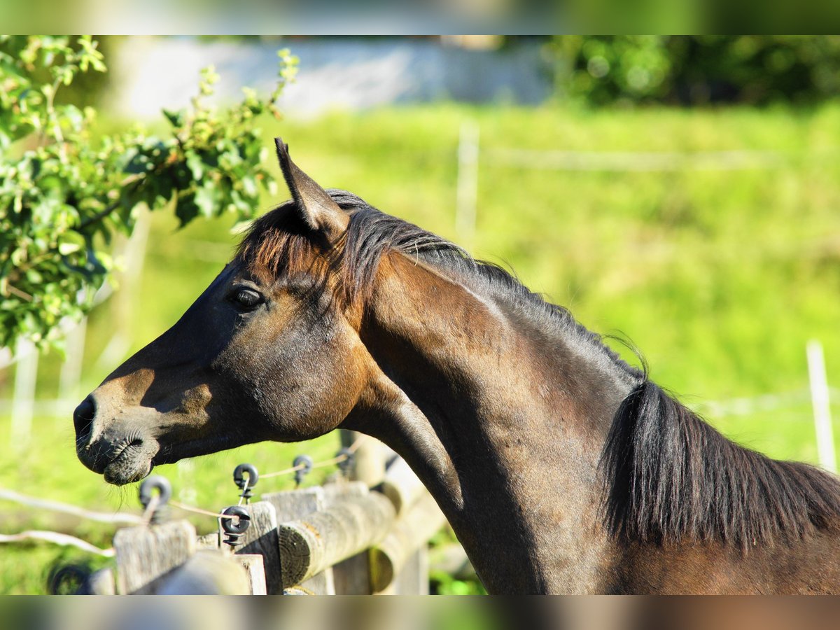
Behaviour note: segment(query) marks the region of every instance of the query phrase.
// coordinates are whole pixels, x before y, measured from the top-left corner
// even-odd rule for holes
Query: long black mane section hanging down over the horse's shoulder
[[[840,517],[837,478],[733,443],[647,378],[613,418],[601,469],[606,526],[625,541],[746,550],[836,528]]]

